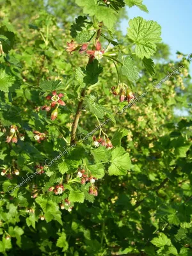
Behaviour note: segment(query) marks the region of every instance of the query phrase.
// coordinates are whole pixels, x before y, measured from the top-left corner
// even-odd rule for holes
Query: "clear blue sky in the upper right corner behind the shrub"
[[[138,7],[127,8],[129,19],[141,16],[146,20],[157,21],[162,28],[163,42],[170,45],[172,55],[176,60],[175,52],[192,53],[192,1],[191,0],[143,0],[148,13]],[[122,31],[127,32],[127,20],[122,22]],[[192,62],[191,62],[192,69]]]

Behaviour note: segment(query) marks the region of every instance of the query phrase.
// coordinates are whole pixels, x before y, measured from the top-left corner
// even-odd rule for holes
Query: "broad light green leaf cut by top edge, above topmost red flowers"
[[[98,5],[95,0],[76,0],[76,4],[83,8],[84,14],[95,16],[108,29],[113,29],[117,19],[115,10],[107,6]]]

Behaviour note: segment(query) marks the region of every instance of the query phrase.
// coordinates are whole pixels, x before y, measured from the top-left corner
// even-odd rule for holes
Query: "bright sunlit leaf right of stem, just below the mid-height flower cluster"
[[[111,166],[109,166],[109,175],[125,175],[131,168],[129,153],[124,148],[117,147],[111,153]]]

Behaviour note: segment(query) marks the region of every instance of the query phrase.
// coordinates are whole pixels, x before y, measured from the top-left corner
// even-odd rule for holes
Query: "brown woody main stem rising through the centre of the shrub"
[[[99,37],[100,37],[101,26],[102,26],[102,24],[100,24],[100,29],[97,30],[97,35],[96,35],[96,38],[95,38],[96,42],[99,40]],[[94,48],[94,46],[93,46],[93,48]],[[92,56],[90,56],[90,58],[88,60],[88,63],[90,63],[91,61],[92,61]],[[74,122],[73,122],[73,125],[72,125],[70,145],[76,143],[77,125],[79,124],[79,118],[81,116],[81,109],[83,107],[85,93],[86,93],[86,88],[83,88],[83,90],[81,92],[81,100],[78,103],[76,116],[74,118]]]

